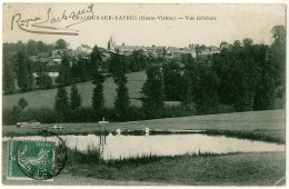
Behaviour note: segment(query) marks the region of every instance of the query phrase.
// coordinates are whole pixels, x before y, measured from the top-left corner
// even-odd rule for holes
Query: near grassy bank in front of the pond
[[[186,186],[273,186],[285,177],[285,152],[151,157],[78,163],[67,171],[109,180],[150,181]]]

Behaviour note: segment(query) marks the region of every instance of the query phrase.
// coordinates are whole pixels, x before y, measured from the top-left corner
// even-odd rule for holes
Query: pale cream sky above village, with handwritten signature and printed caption
[[[53,43],[64,39],[74,49],[80,44],[107,48],[112,36],[117,44],[124,42],[128,46],[175,46],[188,47],[189,43],[219,46],[221,41],[232,43],[235,40],[251,38],[255,43],[263,41],[271,43],[271,29],[273,26],[286,26],[286,4],[93,4],[91,3],[6,3],[3,13],[3,42],[27,42],[30,39]],[[49,21],[42,26],[64,28],[74,24],[76,20],[67,19],[51,23],[66,11],[67,14],[78,10],[92,10],[93,16],[132,16],[137,20],[88,20],[70,27],[78,30],[78,36],[39,34],[22,31],[12,18],[21,14],[21,20],[39,18],[44,21],[49,13]],[[91,12],[83,13],[89,16]],[[138,20],[144,17],[176,17],[177,20]],[[187,20],[186,16],[195,17]],[[197,20],[197,17],[213,17],[216,20]],[[183,19],[178,19],[183,18]],[[11,24],[13,23],[13,30]],[[22,28],[42,31],[31,27]],[[46,30],[46,29],[44,29]],[[46,30],[47,31],[47,30]],[[49,30],[50,31],[50,30]],[[61,30],[62,31],[62,30]]]

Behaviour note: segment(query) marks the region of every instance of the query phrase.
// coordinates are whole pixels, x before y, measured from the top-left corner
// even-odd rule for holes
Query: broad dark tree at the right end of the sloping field
[[[147,81],[141,88],[142,107],[148,117],[158,117],[165,106],[163,80],[159,66],[147,69]]]

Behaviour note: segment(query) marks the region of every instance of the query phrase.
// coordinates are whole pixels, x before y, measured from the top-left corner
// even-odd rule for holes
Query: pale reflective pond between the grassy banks
[[[143,156],[178,156],[229,152],[265,152],[285,151],[285,145],[228,138],[223,136],[189,135],[155,135],[155,136],[60,136],[68,148],[87,152],[100,150],[104,160],[124,159]],[[3,139],[7,140],[8,138]],[[16,139],[33,139],[41,137],[16,137]]]

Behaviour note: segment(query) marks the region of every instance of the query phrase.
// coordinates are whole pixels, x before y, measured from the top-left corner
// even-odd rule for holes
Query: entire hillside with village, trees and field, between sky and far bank
[[[80,122],[98,121],[101,113],[128,121],[280,109],[286,97],[285,31],[283,26],[273,27],[269,46],[250,38],[183,48],[119,46],[112,37],[106,48],[82,44],[76,50],[63,39],[53,44],[4,43],[3,91],[13,102],[7,116],[19,112],[14,105],[23,96],[31,108],[43,107],[49,99],[51,117]],[[37,118],[34,109],[27,112],[32,110],[28,120],[46,118],[46,113]],[[8,122],[16,121],[18,116]]]

